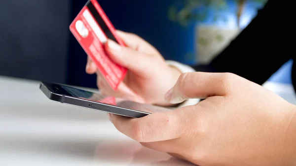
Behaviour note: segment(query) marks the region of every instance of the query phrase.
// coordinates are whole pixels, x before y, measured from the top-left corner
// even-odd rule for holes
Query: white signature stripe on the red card
[[[96,34],[96,36],[99,38],[99,40],[102,43],[107,42],[107,37],[106,37],[105,33],[103,33],[101,28],[98,26],[95,19],[90,14],[89,10],[85,9],[82,15],[85,18],[86,22],[89,24],[90,28],[93,29],[93,32]]]

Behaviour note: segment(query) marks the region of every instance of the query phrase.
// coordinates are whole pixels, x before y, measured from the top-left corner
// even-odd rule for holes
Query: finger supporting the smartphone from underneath
[[[157,112],[143,118],[127,118],[110,114],[115,128],[138,142],[156,142],[183,135],[181,117],[176,111]]]

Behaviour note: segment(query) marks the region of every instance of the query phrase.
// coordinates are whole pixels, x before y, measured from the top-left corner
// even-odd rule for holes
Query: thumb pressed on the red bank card
[[[120,46],[110,39],[106,42],[105,49],[116,64],[128,68],[138,75],[143,75],[148,72],[149,58],[145,53]]]

